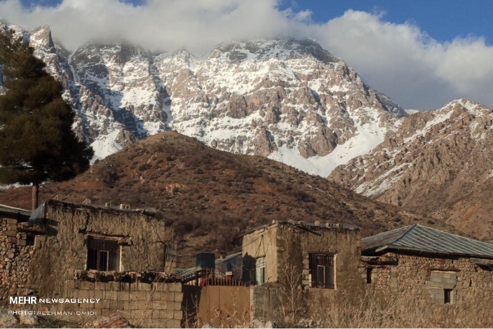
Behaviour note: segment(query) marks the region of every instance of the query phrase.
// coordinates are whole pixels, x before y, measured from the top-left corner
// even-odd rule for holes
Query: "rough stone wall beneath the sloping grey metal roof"
[[[387,258],[387,263],[381,263]],[[363,257],[372,268],[367,296],[405,319],[419,314],[427,327],[491,327],[493,269],[470,258],[432,258],[386,254]],[[445,290],[450,291],[445,303]],[[413,313],[414,312],[414,313]]]

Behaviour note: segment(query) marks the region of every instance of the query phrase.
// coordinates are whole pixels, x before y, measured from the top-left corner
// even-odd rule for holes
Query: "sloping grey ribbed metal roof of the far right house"
[[[361,240],[363,256],[388,251],[493,258],[493,245],[419,224],[396,228]]]

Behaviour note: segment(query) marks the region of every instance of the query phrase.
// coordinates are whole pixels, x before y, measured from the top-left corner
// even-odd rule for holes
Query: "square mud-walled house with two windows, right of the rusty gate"
[[[242,244],[252,318],[337,316],[331,305],[349,306],[364,294],[356,226],[274,222],[245,234]]]

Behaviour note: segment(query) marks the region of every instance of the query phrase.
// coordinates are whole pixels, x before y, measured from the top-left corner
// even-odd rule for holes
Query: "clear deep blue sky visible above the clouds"
[[[54,6],[62,0],[22,0],[24,6]],[[144,0],[126,0],[140,5]],[[281,0],[280,8],[310,10],[317,23],[339,17],[348,9],[384,13],[392,23],[411,22],[438,41],[474,35],[493,43],[491,0]]]

